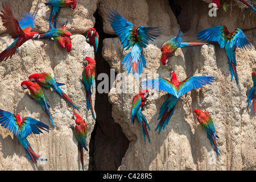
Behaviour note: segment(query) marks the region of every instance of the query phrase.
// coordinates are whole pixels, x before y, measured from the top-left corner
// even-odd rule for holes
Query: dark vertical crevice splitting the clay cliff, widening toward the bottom
[[[110,65],[102,57],[101,52],[103,40],[115,36],[106,34],[103,31],[103,22],[98,10],[94,13],[94,17],[96,18],[94,28],[96,28],[100,37],[96,53],[96,74],[97,76],[101,73],[108,75],[110,90]],[[98,81],[96,77],[96,88],[100,82],[101,80]],[[112,105],[108,101],[108,93],[96,92],[94,110],[97,118],[89,143],[89,170],[117,170],[129,147],[129,140],[123,134],[121,126],[114,122]]]

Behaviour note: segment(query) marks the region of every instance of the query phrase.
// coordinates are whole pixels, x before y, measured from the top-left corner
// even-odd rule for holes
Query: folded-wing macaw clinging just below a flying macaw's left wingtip
[[[133,97],[133,104],[131,106],[131,123],[134,124],[134,119],[137,117],[139,123],[141,123],[141,129],[142,129],[142,134],[144,137],[144,143],[145,143],[145,136],[147,135],[148,142],[150,142],[150,137],[147,132],[147,127],[148,130],[150,130],[150,126],[147,123],[147,119],[144,117],[142,114],[142,108],[146,104],[146,98],[148,96],[148,90],[142,90],[139,94]]]

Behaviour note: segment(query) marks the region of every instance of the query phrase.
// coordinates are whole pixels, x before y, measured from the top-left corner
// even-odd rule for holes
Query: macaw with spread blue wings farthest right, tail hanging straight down
[[[236,28],[232,33],[228,31],[226,26],[210,27],[197,33],[197,38],[208,40],[210,42],[217,42],[221,48],[225,48],[228,56],[229,71],[231,80],[233,76],[238,84],[237,70],[236,70],[236,47],[246,49],[250,47],[250,42],[240,28]]]

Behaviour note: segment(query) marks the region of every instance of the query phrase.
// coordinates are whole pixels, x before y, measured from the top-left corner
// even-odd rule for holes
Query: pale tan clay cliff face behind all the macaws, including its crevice
[[[47,1],[9,2],[18,20],[27,12],[36,14],[32,31],[48,31],[47,19],[51,10],[41,4]],[[0,109],[38,119],[51,127],[48,133],[45,131],[27,137],[35,153],[48,160],[43,163],[28,160],[18,139],[1,126],[0,170],[82,170],[77,140],[69,128],[69,125],[75,125],[71,119],[74,111],[88,124],[86,146],[89,151],[84,151],[85,170],[255,170],[256,119],[250,116],[246,100],[253,86],[251,73],[256,71],[256,13],[238,2],[225,13],[219,9],[217,16],[210,17],[209,2],[78,0],[75,10],[61,8],[57,27],[68,20],[67,30],[72,33],[70,53],[58,48],[53,40],[28,40],[11,59],[0,63]],[[226,2],[230,4],[232,1]],[[135,120],[134,125],[131,123],[131,102],[142,88],[134,89],[133,93],[119,93],[117,86],[121,83],[120,79],[114,82],[110,79],[112,73],[114,76],[124,73],[125,78],[131,77],[121,65],[128,51],[122,49],[108,21],[108,10],[112,8],[136,27],[160,27],[164,32],[143,49],[147,65],[143,73],[158,73],[159,77],[170,79],[171,71],[175,71],[179,81],[189,76],[216,77],[212,85],[205,85],[180,97],[174,115],[160,134],[155,131],[158,113],[168,95],[159,92],[157,99],[148,99],[142,112],[150,125],[150,143],[147,140],[144,143],[138,121]],[[41,10],[45,10],[46,14],[40,13]],[[247,50],[236,49],[238,85],[234,79],[230,81],[228,58],[218,44],[178,48],[168,64],[162,65],[160,48],[179,30],[186,34],[182,36],[183,42],[199,42],[197,32],[218,25],[227,26],[230,32],[241,28],[253,44]],[[85,40],[86,32],[91,27],[95,27],[100,35],[96,54],[97,76],[101,73],[109,76],[109,84],[104,85],[108,86],[105,90],[109,93],[97,92],[101,80],[96,77],[92,96],[96,121],[86,108],[84,85],[79,81],[83,58],[94,57],[93,48]],[[12,42],[0,20],[0,52]],[[31,100],[28,90],[20,86],[23,80],[28,80],[28,76],[42,72],[51,73],[57,82],[65,83],[61,88],[80,109],[73,110],[52,89],[43,88],[55,127],[42,106]],[[130,84],[127,83],[127,86]],[[216,156],[205,130],[197,122],[193,113],[195,109],[207,110],[212,115],[221,156]]]

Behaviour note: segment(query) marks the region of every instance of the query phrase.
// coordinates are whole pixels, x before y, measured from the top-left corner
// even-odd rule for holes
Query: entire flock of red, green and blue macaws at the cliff
[[[213,1],[219,7],[219,1]],[[242,1],[241,1],[242,2]],[[245,1],[246,2],[246,1]],[[246,2],[247,3],[247,2]],[[0,53],[0,63],[3,60],[7,60],[11,58],[17,51],[17,49],[22,46],[24,42],[30,39],[42,39],[42,38],[53,38],[57,47],[66,48],[67,52],[71,51],[72,43],[71,43],[71,32],[65,30],[65,26],[67,22],[61,28],[56,28],[57,14],[60,11],[60,7],[72,7],[72,9],[76,8],[76,0],[50,0],[45,3],[47,6],[51,7],[51,15],[49,17],[49,32],[45,34],[39,34],[38,32],[31,32],[32,28],[34,28],[35,15],[34,14],[26,14],[21,20],[16,20],[14,18],[13,12],[11,10],[10,3],[2,3],[3,11],[1,11],[1,18],[3,22],[3,26],[5,26],[7,32],[14,39],[14,42],[7,47],[4,51]],[[251,5],[250,5],[251,6]],[[249,7],[250,7],[249,6]],[[255,11],[253,6],[250,7]],[[146,48],[148,42],[154,41],[159,35],[163,32],[158,27],[143,27],[139,26],[138,28],[134,27],[134,25],[128,22],[123,16],[121,16],[117,11],[111,9],[109,10],[108,20],[115,32],[115,34],[120,39],[123,49],[131,48],[131,51],[127,53],[125,57],[123,57],[123,68],[126,68],[127,73],[133,73],[133,75],[139,78],[141,75],[143,67],[146,67],[146,60],[143,56],[143,48]],[[184,35],[184,34],[182,34]],[[233,76],[238,84],[238,76],[236,71],[236,47],[246,49],[250,47],[251,44],[249,40],[246,38],[245,34],[243,34],[240,28],[236,28],[233,32],[229,32],[226,26],[216,26],[210,27],[205,30],[202,30],[197,33],[197,38],[201,40],[207,40],[207,43],[184,43],[181,42],[180,31],[178,32],[175,38],[168,40],[163,44],[161,48],[162,56],[161,62],[163,65],[168,63],[168,59],[174,55],[177,48],[181,47],[193,47],[193,46],[203,46],[204,44],[213,44],[218,43],[221,48],[225,48],[226,54],[228,56],[228,64],[229,70],[231,74],[231,80]],[[86,92],[86,106],[88,110],[92,111],[93,119],[95,120],[93,106],[92,106],[92,93],[93,93],[93,85],[96,76],[96,52],[98,48],[98,33],[95,28],[90,28],[86,35],[86,42],[93,46],[94,48],[94,59],[91,57],[85,57],[86,64],[84,64],[84,70],[82,72],[81,82],[85,86]],[[251,101],[251,115],[255,115],[256,113],[256,72],[252,74],[254,85],[250,89],[249,94],[247,96],[247,102],[249,107]],[[185,78],[185,80],[179,82],[176,77],[176,73],[171,73],[171,80],[167,80],[166,78],[155,78],[151,80],[142,81],[142,88],[145,88],[139,94],[133,97],[133,102],[131,106],[131,122],[134,123],[135,118],[138,119],[139,123],[142,127],[142,134],[144,137],[147,136],[148,142],[150,142],[150,137],[148,135],[148,130],[150,130],[150,126],[148,125],[146,117],[142,114],[142,110],[144,105],[146,104],[146,98],[150,95],[148,89],[162,90],[169,93],[169,96],[166,101],[164,101],[163,105],[160,107],[159,117],[160,119],[158,126],[155,130],[158,130],[158,134],[160,131],[168,125],[172,115],[174,114],[175,105],[179,97],[183,96],[185,93],[189,92],[192,89],[201,88],[203,85],[209,84],[215,80],[214,77],[210,76],[191,76]],[[35,73],[28,77],[28,80],[25,80],[21,83],[23,89],[30,90],[30,97],[39,102],[43,110],[46,111],[51,123],[55,126],[53,119],[51,117],[51,113],[49,112],[49,105],[47,104],[46,98],[44,97],[44,93],[41,87],[43,88],[52,88],[55,92],[57,92],[61,98],[63,98],[70,106],[79,111],[79,108],[71,101],[71,99],[61,90],[60,86],[65,85],[55,81],[52,75],[48,73]],[[218,152],[216,137],[218,136],[215,133],[213,119],[210,114],[205,110],[195,109],[193,111],[197,115],[197,121],[200,125],[207,131],[207,138],[212,143],[214,150]],[[73,125],[69,126],[75,131],[76,138],[78,140],[78,147],[81,155],[81,164],[82,169],[84,170],[84,155],[83,148],[86,151],[86,136],[87,136],[87,124],[85,119],[74,113],[73,119],[75,119],[75,127]],[[18,138],[19,142],[24,147],[26,151],[28,159],[31,159],[33,162],[37,160],[47,160],[40,158],[37,154],[35,154],[34,150],[32,150],[28,140],[26,139],[28,135],[31,133],[40,134],[43,133],[42,130],[48,131],[50,127],[46,124],[31,118],[24,117],[21,119],[20,115],[14,115],[9,111],[5,111],[0,109],[0,123],[3,127],[8,127],[8,129],[13,132],[13,134]]]

